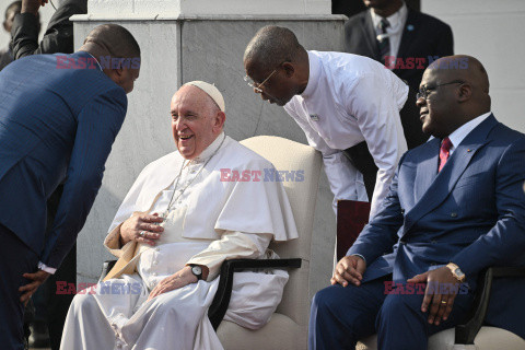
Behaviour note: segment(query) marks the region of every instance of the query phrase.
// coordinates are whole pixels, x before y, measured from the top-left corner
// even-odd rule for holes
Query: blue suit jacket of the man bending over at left
[[[127,109],[124,89],[97,65],[63,69],[57,56],[91,57],[28,56],[0,73],[0,223],[55,268],[84,224]],[[62,182],[45,242],[46,201]]]

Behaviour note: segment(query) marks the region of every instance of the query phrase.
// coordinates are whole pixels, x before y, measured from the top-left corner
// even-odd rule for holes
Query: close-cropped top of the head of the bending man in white
[[[289,28],[267,25],[260,28],[244,51],[244,62],[257,65],[261,70],[272,70],[283,61],[293,62],[305,51],[295,34]]]

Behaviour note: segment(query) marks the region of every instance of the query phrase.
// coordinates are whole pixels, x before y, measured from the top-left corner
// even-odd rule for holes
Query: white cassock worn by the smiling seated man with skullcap
[[[265,182],[264,176],[221,180],[221,170],[265,174],[265,168],[273,166],[223,133],[191,162],[173,152],[149,164],[105,241],[119,260],[104,282],[73,299],[60,349],[222,349],[208,319],[222,261],[272,258],[271,240],[298,237],[281,183]],[[163,213],[172,198],[154,247],[135,241],[119,246],[125,220],[133,212]],[[160,281],[188,264],[207,266],[207,280],[145,303]],[[224,319],[260,328],[277,308],[287,281],[282,270],[235,273]]]

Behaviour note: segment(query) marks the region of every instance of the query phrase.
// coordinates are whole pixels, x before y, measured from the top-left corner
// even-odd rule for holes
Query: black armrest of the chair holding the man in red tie
[[[483,325],[485,316],[487,315],[492,280],[505,277],[525,277],[525,267],[490,267],[485,271],[480,277],[478,292],[476,293],[468,320],[463,325],[456,325],[455,343],[474,345],[474,339]]]

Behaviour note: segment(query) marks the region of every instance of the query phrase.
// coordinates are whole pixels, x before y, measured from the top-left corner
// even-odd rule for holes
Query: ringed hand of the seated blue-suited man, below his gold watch
[[[439,325],[446,320],[454,306],[454,300],[460,288],[460,282],[452,275],[446,266],[439,269],[417,275],[407,281],[408,283],[427,283],[421,311],[429,310],[429,324]]]

